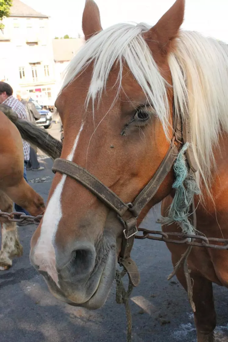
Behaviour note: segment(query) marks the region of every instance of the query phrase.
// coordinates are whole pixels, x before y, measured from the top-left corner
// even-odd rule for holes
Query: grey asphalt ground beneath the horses
[[[59,137],[59,126],[50,133]],[[47,200],[53,174],[52,161],[41,156],[44,171],[28,171],[31,186]],[[159,207],[151,211],[142,226],[160,229],[155,221]],[[19,227],[23,257],[14,260],[9,271],[0,273],[0,342],[125,342],[124,307],[115,303],[115,286],[104,307],[96,311],[68,306],[56,300],[42,277],[29,262],[29,241],[35,225]],[[132,252],[141,274],[130,306],[132,342],[193,342],[196,332],[187,294],[172,272],[170,253],[159,241],[136,240]],[[217,338],[228,341],[228,292],[214,286]]]

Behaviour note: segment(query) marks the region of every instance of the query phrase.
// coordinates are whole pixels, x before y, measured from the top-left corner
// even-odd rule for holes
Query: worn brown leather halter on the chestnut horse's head
[[[118,257],[118,263],[124,267],[128,273],[129,280],[133,286],[138,286],[140,281],[139,272],[135,262],[130,258],[130,252],[134,244],[134,238],[137,231],[137,217],[142,209],[151,201],[156,194],[160,185],[163,183],[165,177],[172,169],[174,161],[179,152],[179,146],[182,143],[189,142],[190,146],[186,151],[186,158],[190,169],[193,172],[197,171],[197,164],[194,159],[191,147],[191,130],[190,118],[187,116],[183,123],[173,111],[174,116],[174,136],[170,147],[163,159],[160,167],[149,181],[149,183],[142,189],[139,195],[132,203],[125,203],[112,190],[106,187],[95,176],[93,176],[86,169],[77,165],[76,163],[57,158],[54,161],[52,171],[60,172],[72,177],[78,183],[86,187],[91,193],[99,198],[104,204],[116,212],[119,220],[124,226],[122,248]],[[178,146],[178,147],[177,147]]]

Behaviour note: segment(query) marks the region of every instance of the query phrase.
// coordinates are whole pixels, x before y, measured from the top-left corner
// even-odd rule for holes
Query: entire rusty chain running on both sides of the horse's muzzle
[[[35,223],[38,225],[43,215],[38,216],[31,216],[25,215],[22,212],[13,211],[11,213],[3,212],[0,210],[0,218],[8,218],[11,222],[20,223],[20,225],[27,225],[31,223]],[[207,247],[207,248],[214,248],[214,249],[228,249],[228,239],[218,239],[214,237],[205,237],[202,235],[191,235],[191,234],[184,234],[184,233],[173,233],[168,232],[164,233],[161,231],[150,231],[149,229],[145,228],[138,228],[138,232],[142,232],[142,235],[135,235],[136,239],[144,240],[156,240],[156,241],[163,241],[168,244],[177,244],[177,245],[189,245],[189,246],[196,246],[196,247]],[[159,236],[156,236],[159,235]],[[171,238],[170,238],[171,237]],[[175,237],[176,239],[172,239]],[[198,240],[198,241],[195,241]],[[199,242],[200,241],[200,242]],[[216,244],[211,243],[216,242]]]

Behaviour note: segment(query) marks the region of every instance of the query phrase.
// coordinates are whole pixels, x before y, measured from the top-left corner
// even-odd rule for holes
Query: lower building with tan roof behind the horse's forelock
[[[60,89],[66,67],[84,44],[83,38],[53,39],[56,87]]]

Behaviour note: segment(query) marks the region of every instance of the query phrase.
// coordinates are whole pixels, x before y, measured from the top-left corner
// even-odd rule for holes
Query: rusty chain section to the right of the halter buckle
[[[161,231],[150,231],[149,229],[145,228],[138,228],[138,232],[142,232],[142,235],[135,235],[136,239],[150,239],[150,240],[157,240],[157,241],[164,241],[170,244],[178,244],[178,245],[189,245],[189,246],[196,246],[196,247],[208,247],[214,249],[228,249],[228,239],[218,239],[218,238],[207,238],[202,235],[191,235],[191,234],[184,234],[184,233],[173,233],[168,232],[164,233]],[[155,236],[160,235],[160,236]],[[177,239],[172,239],[170,237],[176,237]],[[197,242],[195,240],[201,241]],[[211,244],[210,242],[216,242],[217,244]]]

